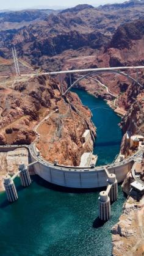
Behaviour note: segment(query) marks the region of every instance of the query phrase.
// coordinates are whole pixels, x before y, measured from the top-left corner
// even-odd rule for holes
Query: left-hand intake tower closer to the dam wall
[[[25,164],[20,164],[19,170],[20,170],[21,185],[24,187],[30,186],[32,182],[31,182],[31,178],[29,175],[29,171],[28,171],[27,167],[25,166]]]

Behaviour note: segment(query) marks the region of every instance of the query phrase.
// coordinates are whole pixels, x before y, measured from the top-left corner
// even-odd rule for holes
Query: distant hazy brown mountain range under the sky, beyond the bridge
[[[11,58],[10,48],[15,45],[18,57],[30,64],[45,70],[59,69],[66,56],[82,56],[85,51],[91,56],[103,51],[118,26],[143,17],[144,3],[130,1],[109,8],[77,5],[59,13],[49,12],[1,13],[0,56]]]

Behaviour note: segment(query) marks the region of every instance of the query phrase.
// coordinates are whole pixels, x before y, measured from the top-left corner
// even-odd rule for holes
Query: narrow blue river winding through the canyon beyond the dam
[[[97,137],[93,153],[98,155],[97,166],[110,164],[120,152],[122,132],[118,123],[121,118],[107,105],[106,101],[95,98],[84,90],[73,89],[82,104],[92,111]]]

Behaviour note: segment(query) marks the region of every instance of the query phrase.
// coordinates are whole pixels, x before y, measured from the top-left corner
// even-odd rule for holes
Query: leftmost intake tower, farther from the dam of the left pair
[[[4,188],[9,202],[15,202],[18,199],[18,194],[16,192],[15,184],[10,175],[7,175],[4,178]]]

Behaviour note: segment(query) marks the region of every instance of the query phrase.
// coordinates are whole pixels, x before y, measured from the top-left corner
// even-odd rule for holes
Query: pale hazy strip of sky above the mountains
[[[0,0],[0,9],[23,9],[23,8],[30,8],[35,7],[37,5],[61,5],[61,6],[74,6],[77,4],[92,4],[92,5],[100,5],[100,4],[107,4],[113,2],[124,2],[124,0]]]

